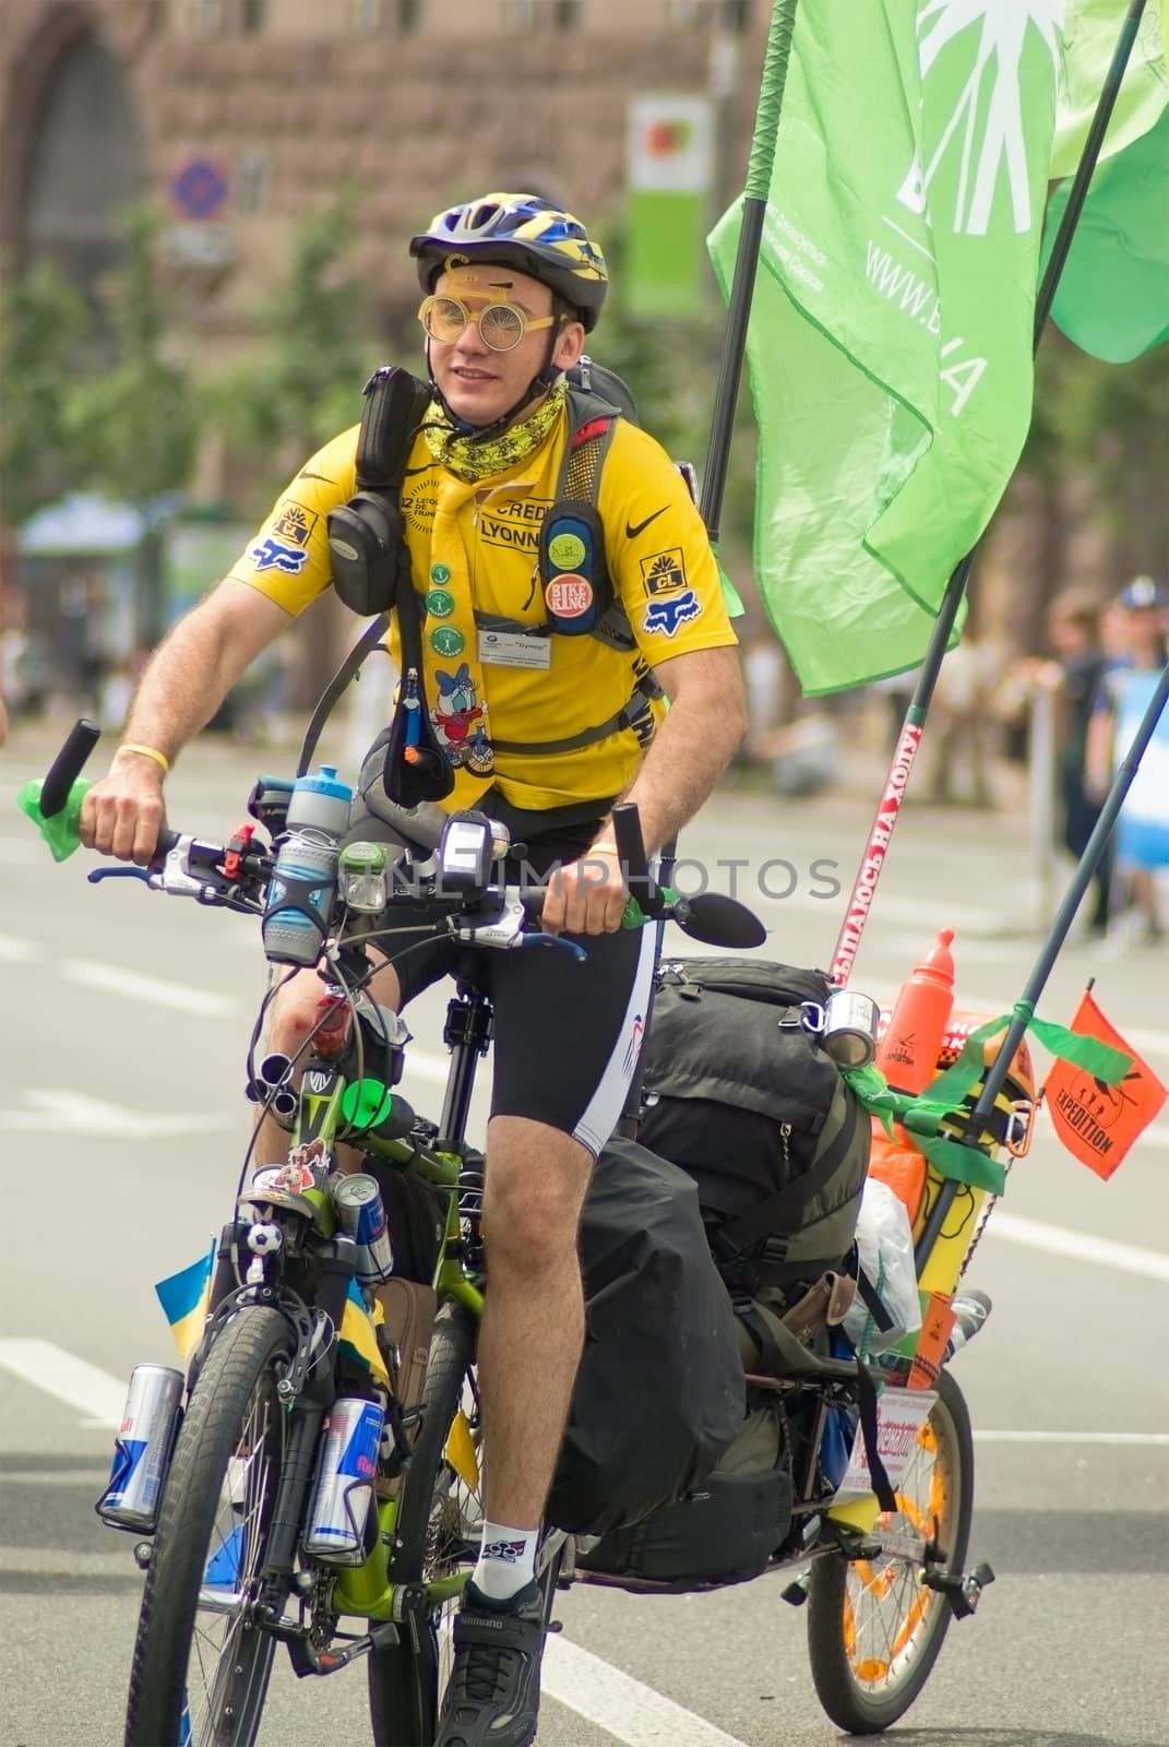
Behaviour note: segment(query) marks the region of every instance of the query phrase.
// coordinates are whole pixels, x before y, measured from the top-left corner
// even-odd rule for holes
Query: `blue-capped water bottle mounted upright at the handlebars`
[[[299,776],[264,912],[264,952],[274,964],[316,964],[337,891],[337,849],[353,790],[334,765]]]

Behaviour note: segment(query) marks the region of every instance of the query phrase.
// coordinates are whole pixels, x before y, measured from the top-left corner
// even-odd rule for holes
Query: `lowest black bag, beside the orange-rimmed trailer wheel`
[[[748,1583],[792,1527],[792,1454],[783,1408],[751,1405],[713,1474],[676,1504],[577,1550],[577,1565],[624,1588],[702,1590]]]

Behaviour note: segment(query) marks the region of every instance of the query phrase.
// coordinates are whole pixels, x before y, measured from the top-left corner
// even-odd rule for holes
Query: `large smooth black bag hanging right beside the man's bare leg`
[[[610,1141],[584,1205],[580,1261],[585,1347],[545,1515],[605,1534],[706,1480],[746,1398],[734,1314],[685,1172]]]

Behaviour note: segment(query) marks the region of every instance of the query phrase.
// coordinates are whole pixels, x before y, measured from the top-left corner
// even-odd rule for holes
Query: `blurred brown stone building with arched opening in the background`
[[[0,0],[0,257],[94,288],[119,211],[169,217],[176,311],[241,339],[292,225],[360,190],[395,307],[405,238],[489,187],[617,208],[629,100],[715,105],[711,211],[743,185],[765,0]]]

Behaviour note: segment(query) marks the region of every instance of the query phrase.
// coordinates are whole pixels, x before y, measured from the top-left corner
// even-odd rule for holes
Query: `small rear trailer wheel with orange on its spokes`
[[[924,1476],[930,1488],[924,1508],[919,1495],[910,1497],[921,1490],[923,1454],[933,1455]],[[961,1572],[973,1509],[973,1441],[966,1401],[949,1371],[938,1378],[938,1398],[896,1499],[898,1516],[879,1518],[879,1532],[896,1534],[900,1522],[910,1532],[930,1534],[930,1520],[937,1518],[945,1571]],[[813,1565],[807,1599],[813,1682],[828,1717],[849,1735],[891,1728],[930,1679],[952,1612],[944,1595],[919,1581],[919,1569],[895,1555],[853,1564],[825,1555]],[[889,1597],[895,1605],[881,1612]],[[875,1642],[881,1635],[882,1644]],[[881,1653],[872,1654],[870,1647]]]

